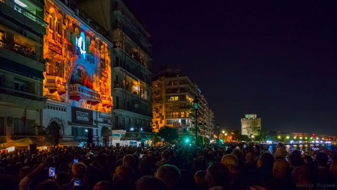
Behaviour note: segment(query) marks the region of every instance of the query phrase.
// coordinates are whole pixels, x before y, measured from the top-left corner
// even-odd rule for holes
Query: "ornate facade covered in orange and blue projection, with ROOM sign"
[[[69,2],[46,0],[43,125],[63,140],[110,145],[112,43]]]

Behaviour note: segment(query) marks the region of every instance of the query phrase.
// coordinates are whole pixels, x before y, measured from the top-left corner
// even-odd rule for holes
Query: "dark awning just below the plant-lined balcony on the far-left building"
[[[45,78],[42,71],[33,69],[24,64],[16,63],[4,57],[0,57],[0,68],[20,75],[25,75],[26,77]]]

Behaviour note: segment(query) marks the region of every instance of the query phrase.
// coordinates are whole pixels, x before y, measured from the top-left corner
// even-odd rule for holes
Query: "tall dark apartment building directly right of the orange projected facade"
[[[121,0],[81,0],[78,4],[112,31],[114,129],[151,132],[150,34]]]

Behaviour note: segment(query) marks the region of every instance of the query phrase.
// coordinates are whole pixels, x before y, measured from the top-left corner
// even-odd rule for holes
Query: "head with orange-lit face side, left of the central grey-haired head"
[[[129,166],[119,166],[113,173],[112,181],[118,184],[129,186],[133,183],[135,174]]]

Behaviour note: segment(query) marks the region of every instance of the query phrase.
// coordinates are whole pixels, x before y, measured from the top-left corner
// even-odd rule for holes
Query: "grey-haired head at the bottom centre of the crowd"
[[[169,189],[174,189],[180,180],[180,170],[170,164],[162,165],[158,168],[155,177],[164,181]]]

